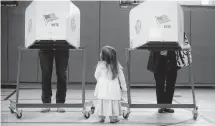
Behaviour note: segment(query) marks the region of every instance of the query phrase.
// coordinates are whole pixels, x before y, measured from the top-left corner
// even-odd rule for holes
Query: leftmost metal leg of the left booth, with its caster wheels
[[[19,111],[16,106],[19,103],[21,60],[22,60],[22,48],[19,48],[18,71],[17,71],[17,78],[16,78],[16,102],[13,102],[11,100],[9,105],[10,112],[15,113],[18,119],[22,117],[22,111]]]

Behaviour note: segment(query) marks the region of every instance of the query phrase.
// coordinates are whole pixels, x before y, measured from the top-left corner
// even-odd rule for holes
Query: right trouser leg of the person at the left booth
[[[56,103],[65,103],[68,61],[69,50],[55,50],[55,64],[57,74]]]

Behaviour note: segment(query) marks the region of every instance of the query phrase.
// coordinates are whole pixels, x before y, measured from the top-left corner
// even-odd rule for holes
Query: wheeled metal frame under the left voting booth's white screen
[[[68,48],[67,48],[68,49]],[[20,90],[20,72],[21,72],[21,61],[22,61],[22,52],[23,51],[29,51],[29,50],[34,50],[34,51],[39,51],[38,48],[19,48],[19,58],[18,58],[18,73],[17,73],[17,84],[16,84],[16,101],[10,101],[9,104],[9,109],[11,113],[15,113],[16,117],[20,119],[22,117],[22,110],[19,110],[19,108],[83,108],[82,113],[85,118],[89,118],[90,114],[94,113],[95,107],[93,106],[93,102],[85,102],[85,85],[86,85],[86,48],[69,48],[69,52],[71,51],[81,51],[82,52],[82,102],[81,103],[76,103],[76,104],[62,104],[62,103],[37,103],[37,104],[32,104],[32,103],[19,103],[19,90]],[[69,58],[70,59],[70,58]],[[68,67],[69,69],[69,67]],[[68,81],[68,80],[67,80]],[[87,111],[86,108],[88,106],[91,106],[91,110]]]

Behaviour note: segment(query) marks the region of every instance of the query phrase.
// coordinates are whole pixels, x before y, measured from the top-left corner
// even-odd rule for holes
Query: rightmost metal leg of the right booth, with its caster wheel
[[[188,64],[189,64],[189,83],[191,84],[191,88],[192,88],[192,96],[193,96],[193,104],[194,104],[194,108],[193,108],[193,119],[196,120],[198,117],[198,107],[196,105],[196,97],[195,97],[195,87],[194,87],[194,81],[193,81],[193,76],[192,76],[192,66],[191,66],[191,59],[189,56],[189,53],[187,53],[188,55]]]

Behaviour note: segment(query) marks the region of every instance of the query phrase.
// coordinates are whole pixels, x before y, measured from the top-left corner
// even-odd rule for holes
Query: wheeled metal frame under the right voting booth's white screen
[[[154,42],[152,42],[154,43]],[[126,67],[127,67],[127,99],[128,103],[123,102],[122,106],[127,108],[127,111],[123,112],[123,117],[127,119],[130,114],[130,108],[193,108],[192,114],[193,114],[193,119],[196,120],[198,117],[198,107],[196,105],[196,97],[195,97],[195,89],[194,89],[194,80],[192,76],[192,67],[191,67],[191,59],[188,56],[188,63],[189,63],[189,85],[191,86],[192,89],[192,98],[193,98],[193,103],[192,104],[132,104],[131,103],[131,91],[130,91],[130,85],[131,85],[131,78],[130,78],[130,68],[131,68],[131,52],[137,51],[137,50],[156,50],[156,51],[161,51],[161,50],[182,50],[179,46],[170,46],[166,45],[164,46],[156,46],[156,44],[152,45],[144,45],[139,48],[131,49],[131,48],[126,48],[125,49],[125,54],[126,54]],[[184,49],[186,50],[186,49]],[[187,51],[189,53],[189,51]],[[188,55],[188,54],[187,54]]]

